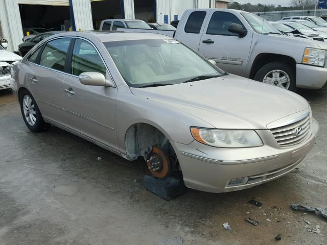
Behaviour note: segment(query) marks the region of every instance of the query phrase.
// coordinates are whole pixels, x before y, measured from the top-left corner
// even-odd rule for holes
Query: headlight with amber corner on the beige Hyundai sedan
[[[220,148],[246,148],[262,146],[254,130],[221,130],[191,127],[193,138],[200,143]]]

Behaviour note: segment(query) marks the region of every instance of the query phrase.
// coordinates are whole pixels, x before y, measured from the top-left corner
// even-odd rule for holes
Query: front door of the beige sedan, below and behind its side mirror
[[[68,112],[69,128],[83,136],[118,149],[115,128],[117,88],[84,85],[82,72],[96,71],[110,76],[97,48],[88,40],[76,38],[65,75],[63,102]]]

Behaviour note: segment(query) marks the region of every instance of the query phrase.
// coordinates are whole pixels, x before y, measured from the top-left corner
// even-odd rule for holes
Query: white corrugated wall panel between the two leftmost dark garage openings
[[[74,10],[76,31],[93,30],[90,0],[71,0]]]

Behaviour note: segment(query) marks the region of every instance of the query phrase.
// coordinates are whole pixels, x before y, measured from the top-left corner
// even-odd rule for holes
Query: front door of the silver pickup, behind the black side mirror
[[[252,43],[252,29],[247,29],[246,36],[240,38],[228,31],[231,23],[241,24],[245,29],[235,14],[212,11],[209,18],[200,40],[199,53],[207,59],[215,60],[221,69],[244,76]]]

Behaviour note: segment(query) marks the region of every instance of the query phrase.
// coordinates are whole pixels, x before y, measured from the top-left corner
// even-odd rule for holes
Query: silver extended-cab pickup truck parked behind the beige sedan
[[[282,35],[268,21],[245,11],[186,10],[177,30],[162,34],[189,45],[220,68],[256,81],[293,91],[319,89],[327,81],[327,44]]]

